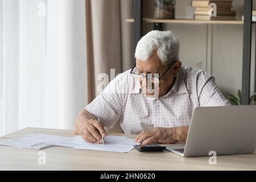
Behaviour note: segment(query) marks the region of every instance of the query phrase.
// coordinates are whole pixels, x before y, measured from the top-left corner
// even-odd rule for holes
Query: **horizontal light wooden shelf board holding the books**
[[[134,19],[126,19],[126,22],[133,23]],[[188,23],[188,24],[243,24],[242,20],[195,20],[195,19],[155,19],[143,18],[147,23]]]

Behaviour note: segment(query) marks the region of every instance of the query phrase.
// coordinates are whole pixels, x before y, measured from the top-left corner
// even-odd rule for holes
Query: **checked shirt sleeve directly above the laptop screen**
[[[201,107],[207,106],[230,106],[221,90],[218,88],[213,76],[210,76],[199,86],[199,102]]]

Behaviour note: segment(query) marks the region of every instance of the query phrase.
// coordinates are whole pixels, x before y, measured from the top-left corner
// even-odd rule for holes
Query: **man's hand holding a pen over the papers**
[[[102,143],[102,138],[106,136],[104,127],[96,119],[90,119],[88,121],[80,121],[76,126],[76,134],[89,143]]]

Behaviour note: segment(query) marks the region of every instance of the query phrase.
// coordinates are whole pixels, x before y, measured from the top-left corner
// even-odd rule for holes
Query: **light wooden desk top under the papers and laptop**
[[[1,137],[16,138],[32,133],[74,136],[71,130],[26,128]],[[124,134],[116,134],[124,135]],[[135,138],[135,135],[128,135]],[[217,156],[217,164],[208,163],[209,156],[183,158],[172,152],[128,153],[75,150],[66,147],[49,147],[46,165],[38,164],[39,150],[0,146],[0,170],[244,170],[256,169],[256,155]]]

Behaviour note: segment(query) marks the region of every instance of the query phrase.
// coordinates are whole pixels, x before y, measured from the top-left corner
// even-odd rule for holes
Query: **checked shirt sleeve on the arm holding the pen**
[[[85,109],[94,118],[100,118],[102,126],[111,128],[120,119],[122,107],[122,93],[115,78]]]

